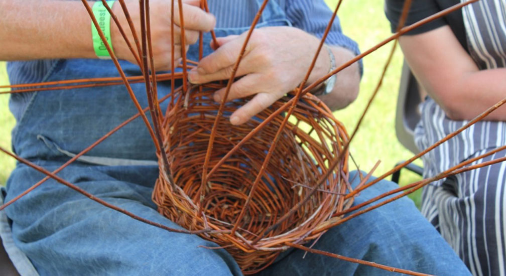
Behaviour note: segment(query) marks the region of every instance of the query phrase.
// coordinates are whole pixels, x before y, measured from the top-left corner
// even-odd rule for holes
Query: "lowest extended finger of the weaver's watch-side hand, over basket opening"
[[[271,93],[259,93],[251,101],[247,102],[241,108],[237,109],[230,116],[230,123],[238,125],[245,123],[257,113],[271,106],[276,100],[277,96]]]

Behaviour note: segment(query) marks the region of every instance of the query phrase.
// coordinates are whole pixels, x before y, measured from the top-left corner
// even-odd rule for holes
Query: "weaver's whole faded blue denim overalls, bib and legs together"
[[[258,2],[262,2],[258,0]],[[282,9],[270,2],[259,27],[288,25]],[[218,29],[218,36],[245,29]],[[205,54],[209,36],[205,36]],[[189,56],[197,60],[198,50]],[[139,75],[121,62],[127,75]],[[46,81],[116,76],[110,61],[60,60]],[[143,84],[132,85],[141,106],[147,106]],[[170,83],[158,87],[160,97]],[[107,131],[137,113],[123,86],[38,92],[13,132],[18,155],[52,171],[68,155],[91,145]],[[156,211],[151,193],[158,176],[152,141],[141,119],[111,135],[59,176],[111,204],[170,227],[179,227]],[[96,162],[100,160],[100,162]],[[90,165],[89,163],[95,163]],[[101,164],[101,165],[97,165]],[[108,164],[108,166],[104,165]],[[10,200],[44,175],[19,164],[7,183]],[[387,181],[362,192],[356,202],[391,189]],[[176,234],[133,220],[49,180],[6,208],[12,238],[41,275],[240,275],[223,249],[195,235]],[[4,229],[5,230],[5,229]],[[8,228],[7,228],[8,230]],[[8,231],[4,231],[8,232]],[[12,244],[8,245],[12,252]],[[409,200],[370,212],[326,233],[315,248],[438,275],[468,274],[439,234]],[[385,274],[384,270],[308,255],[285,253],[262,274]]]

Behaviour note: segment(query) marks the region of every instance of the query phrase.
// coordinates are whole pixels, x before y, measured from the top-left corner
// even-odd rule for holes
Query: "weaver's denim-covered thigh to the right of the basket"
[[[379,181],[361,192],[354,205],[395,188],[398,186],[393,182]],[[469,274],[450,246],[405,197],[329,229],[313,248],[434,275]],[[304,251],[294,250],[261,274],[270,275],[274,271],[283,271],[282,275],[389,274],[331,257],[307,254],[303,258],[304,255]]]

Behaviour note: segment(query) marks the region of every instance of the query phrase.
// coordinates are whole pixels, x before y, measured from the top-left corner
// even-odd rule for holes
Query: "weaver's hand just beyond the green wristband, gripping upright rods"
[[[130,16],[136,27],[137,35],[141,34],[140,27],[140,14],[139,14],[139,1],[128,1],[126,6],[129,10]],[[156,70],[170,70],[171,69],[171,1],[167,0],[152,0],[149,2],[150,6],[150,25],[151,25],[151,41],[153,47],[153,57]],[[119,3],[115,3],[112,7],[114,14],[118,17],[121,26],[135,48],[134,38],[126,18],[123,15],[123,10]],[[183,0],[183,19],[185,28],[185,43],[186,49],[188,45],[195,43],[198,40],[199,31],[210,31],[214,28],[216,19],[212,14],[206,13],[199,8],[199,0]],[[174,57],[176,65],[181,58],[181,18],[179,16],[178,1],[174,1]],[[119,59],[128,60],[132,63],[137,63],[134,56],[130,52],[119,30],[111,22],[111,40],[114,53]],[[136,48],[135,48],[136,49]]]

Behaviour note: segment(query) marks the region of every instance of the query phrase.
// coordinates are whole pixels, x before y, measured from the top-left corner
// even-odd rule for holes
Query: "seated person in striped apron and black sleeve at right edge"
[[[458,0],[414,0],[406,25]],[[386,0],[395,31],[403,0]],[[429,97],[420,104],[415,143],[424,150],[502,100],[506,94],[504,1],[483,0],[416,28],[399,38],[404,57]],[[424,177],[506,145],[506,107],[457,134],[423,157]],[[473,164],[500,158],[497,152]],[[502,275],[506,254],[506,163],[431,183],[421,211],[474,275]]]

